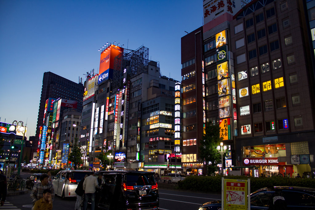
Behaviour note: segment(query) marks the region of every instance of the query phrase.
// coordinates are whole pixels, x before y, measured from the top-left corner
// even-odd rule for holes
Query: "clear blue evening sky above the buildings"
[[[106,42],[144,45],[180,81],[180,38],[202,23],[202,0],[0,0],[1,122],[27,121],[26,136],[35,135],[43,73],[84,80]]]

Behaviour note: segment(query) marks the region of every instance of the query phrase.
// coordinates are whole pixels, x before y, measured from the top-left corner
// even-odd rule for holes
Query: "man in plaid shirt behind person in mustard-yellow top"
[[[31,190],[30,196],[31,196],[33,205],[35,205],[35,202],[43,197],[43,192],[46,189],[49,189],[51,191],[51,200],[54,201],[54,196],[55,196],[54,186],[53,184],[51,184],[51,182],[49,182],[49,175],[47,173],[43,173],[39,177],[39,180],[40,181],[34,184]]]

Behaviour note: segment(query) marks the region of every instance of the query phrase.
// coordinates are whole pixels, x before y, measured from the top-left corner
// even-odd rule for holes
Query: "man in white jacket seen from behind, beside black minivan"
[[[91,200],[91,210],[95,209],[95,187],[99,188],[97,178],[94,176],[94,172],[91,173],[83,182],[84,190],[84,205],[83,209],[88,208],[88,201]]]

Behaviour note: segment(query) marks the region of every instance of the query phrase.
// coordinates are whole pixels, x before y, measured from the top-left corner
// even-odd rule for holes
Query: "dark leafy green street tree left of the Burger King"
[[[200,141],[199,155],[205,162],[211,163],[207,165],[208,175],[219,170],[217,164],[221,162],[221,155],[217,150],[217,146],[220,141],[219,125],[207,122],[205,124],[205,134],[203,134],[203,139]]]

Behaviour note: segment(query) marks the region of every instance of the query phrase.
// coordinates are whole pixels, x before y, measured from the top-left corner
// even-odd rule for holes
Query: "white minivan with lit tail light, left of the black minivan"
[[[58,172],[51,180],[55,194],[62,198],[76,197],[77,184],[84,178],[85,174],[91,173],[92,171],[87,170],[63,170]]]

